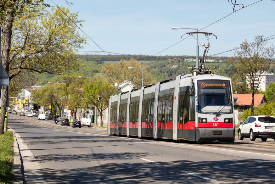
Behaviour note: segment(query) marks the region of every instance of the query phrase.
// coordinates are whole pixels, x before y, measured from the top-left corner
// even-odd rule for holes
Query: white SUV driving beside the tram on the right
[[[256,138],[261,138],[263,142],[267,138],[275,139],[275,117],[274,116],[250,116],[241,125],[238,130],[239,140],[244,140],[244,137],[250,137],[251,141]]]

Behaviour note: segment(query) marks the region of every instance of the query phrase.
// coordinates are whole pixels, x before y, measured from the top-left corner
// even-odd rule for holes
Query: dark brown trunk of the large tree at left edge
[[[12,35],[12,25],[13,25],[13,17],[14,12],[12,9],[8,9],[9,13],[7,15],[5,27],[2,27],[2,32],[4,34],[4,44],[3,44],[3,55],[2,55],[2,64],[4,69],[8,74],[9,69],[9,52],[10,52],[10,45],[11,45],[11,35]],[[0,114],[0,134],[4,133],[4,121],[5,121],[5,109],[7,108],[7,101],[8,101],[8,86],[3,86],[3,100],[2,100],[2,111],[3,113]]]

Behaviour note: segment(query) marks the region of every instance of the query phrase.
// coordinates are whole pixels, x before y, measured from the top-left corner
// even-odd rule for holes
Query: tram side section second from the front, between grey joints
[[[175,80],[160,84],[157,138],[173,139],[173,101]]]

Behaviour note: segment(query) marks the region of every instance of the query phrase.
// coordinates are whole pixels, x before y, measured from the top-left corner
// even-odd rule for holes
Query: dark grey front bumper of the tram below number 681
[[[196,128],[197,142],[234,142],[234,128]]]

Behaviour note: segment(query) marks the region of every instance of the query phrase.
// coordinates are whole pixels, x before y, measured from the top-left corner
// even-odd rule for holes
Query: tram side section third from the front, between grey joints
[[[141,114],[141,136],[154,137],[154,97],[156,85],[144,89]]]

